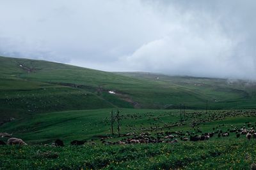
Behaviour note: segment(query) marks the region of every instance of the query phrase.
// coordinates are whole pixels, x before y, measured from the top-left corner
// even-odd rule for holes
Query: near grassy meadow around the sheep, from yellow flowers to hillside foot
[[[115,134],[111,134],[109,111],[111,108],[36,114],[2,125],[0,131],[13,133],[28,145],[0,146],[0,169],[250,169],[256,162],[256,139],[236,138],[232,132],[228,137],[217,135],[234,128],[254,129],[256,110],[186,110],[186,120],[180,122],[179,110],[120,109],[121,134],[216,134],[207,141],[182,141],[176,136],[177,143],[102,145],[102,137],[111,137],[107,139],[111,142],[127,138],[116,134],[116,124]],[[157,128],[150,129],[152,126]],[[64,147],[43,145],[57,138],[64,141]],[[74,139],[87,142],[72,146]]]

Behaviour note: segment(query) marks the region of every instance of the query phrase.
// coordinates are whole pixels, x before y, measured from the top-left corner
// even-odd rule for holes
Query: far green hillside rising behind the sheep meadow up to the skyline
[[[0,120],[95,108],[255,108],[255,83],[153,73],[108,73],[0,57]],[[116,94],[109,94],[113,90]]]

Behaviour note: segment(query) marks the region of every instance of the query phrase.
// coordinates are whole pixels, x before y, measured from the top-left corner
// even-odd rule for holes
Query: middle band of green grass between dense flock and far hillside
[[[13,136],[24,139],[28,143],[52,143],[60,138],[65,143],[74,139],[93,139],[100,143],[102,136],[111,136],[111,110],[116,115],[116,109],[61,111],[36,114],[28,118],[15,120],[0,126],[0,132],[13,133]],[[120,109],[121,133],[158,131],[189,131],[196,132],[191,124],[196,122],[203,132],[213,132],[213,128],[223,132],[232,129],[232,125],[240,129],[245,122],[256,122],[256,111],[204,111],[187,110],[186,121],[180,124],[179,110],[134,110]],[[182,118],[184,117],[182,113]],[[150,130],[150,127],[158,129]],[[116,122],[114,124],[115,133]],[[200,133],[199,133],[200,134]],[[189,137],[189,136],[188,136]],[[111,141],[122,138],[113,136]],[[217,139],[217,136],[212,139]]]

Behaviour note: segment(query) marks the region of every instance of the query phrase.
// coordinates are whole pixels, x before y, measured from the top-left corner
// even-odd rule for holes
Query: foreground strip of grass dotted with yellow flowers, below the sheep
[[[1,146],[2,169],[250,169],[255,141],[124,146]]]

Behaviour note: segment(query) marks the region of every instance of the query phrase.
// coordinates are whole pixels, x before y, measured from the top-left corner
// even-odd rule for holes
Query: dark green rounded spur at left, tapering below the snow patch
[[[0,122],[35,113],[113,107],[92,92],[71,87],[25,80],[4,80],[1,86]]]

